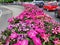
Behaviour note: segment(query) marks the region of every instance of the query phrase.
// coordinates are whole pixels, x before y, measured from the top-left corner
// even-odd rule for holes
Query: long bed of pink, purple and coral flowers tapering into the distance
[[[8,20],[0,45],[60,45],[60,24],[34,5]]]

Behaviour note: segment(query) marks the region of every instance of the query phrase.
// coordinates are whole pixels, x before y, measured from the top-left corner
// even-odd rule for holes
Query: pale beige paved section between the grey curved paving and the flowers
[[[12,10],[13,16],[19,15],[24,10],[24,7],[19,5],[2,5],[1,7]]]

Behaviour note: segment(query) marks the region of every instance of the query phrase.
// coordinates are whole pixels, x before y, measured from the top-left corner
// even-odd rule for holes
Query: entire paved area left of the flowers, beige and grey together
[[[8,18],[19,15],[24,10],[24,8],[18,5],[0,5],[0,10],[2,10],[2,15],[0,16],[1,33],[1,30],[4,30],[8,26]]]

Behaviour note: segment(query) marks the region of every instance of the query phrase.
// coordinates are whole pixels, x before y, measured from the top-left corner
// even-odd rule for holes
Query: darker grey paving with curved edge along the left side
[[[9,9],[0,7],[0,10],[2,10],[2,15],[0,16],[0,33],[3,31],[7,25],[8,25],[8,18],[12,17],[12,12]]]

